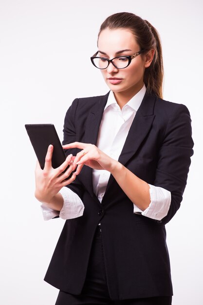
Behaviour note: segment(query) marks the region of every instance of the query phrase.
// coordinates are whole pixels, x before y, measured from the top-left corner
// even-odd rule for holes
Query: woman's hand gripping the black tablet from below
[[[70,176],[71,172],[74,169],[72,154],[70,154],[58,168],[54,169],[52,167],[53,149],[53,145],[50,145],[48,147],[44,169],[42,170],[40,168],[38,161],[35,169],[35,197],[38,201],[46,204],[51,203],[55,195],[60,191],[60,189],[72,183],[76,177],[76,174],[73,173],[71,178],[65,180]],[[68,165],[70,166],[65,171]]]

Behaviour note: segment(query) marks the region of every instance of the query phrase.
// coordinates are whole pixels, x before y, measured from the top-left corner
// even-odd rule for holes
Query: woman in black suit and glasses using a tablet
[[[91,60],[110,92],[74,100],[64,123],[69,156],[53,169],[50,146],[36,168],[45,219],[67,219],[45,281],[60,289],[56,305],[169,305],[165,224],[193,154],[189,112],[162,99],[162,49],[148,21],[107,18]]]

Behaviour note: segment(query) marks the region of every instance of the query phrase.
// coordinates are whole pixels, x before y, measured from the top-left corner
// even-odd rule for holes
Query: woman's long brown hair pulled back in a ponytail
[[[126,28],[132,31],[137,43],[145,53],[151,49],[155,50],[153,60],[148,68],[145,69],[144,83],[149,94],[162,96],[163,83],[163,58],[162,46],[157,30],[147,21],[132,13],[116,13],[109,16],[101,25],[99,35],[104,29]],[[141,55],[142,56],[142,55]]]

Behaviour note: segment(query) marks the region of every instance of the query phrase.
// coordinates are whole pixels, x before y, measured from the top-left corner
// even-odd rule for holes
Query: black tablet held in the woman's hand
[[[50,144],[54,146],[52,167],[55,169],[66,160],[65,152],[53,124],[26,124],[25,128],[42,170],[44,169],[45,157]]]

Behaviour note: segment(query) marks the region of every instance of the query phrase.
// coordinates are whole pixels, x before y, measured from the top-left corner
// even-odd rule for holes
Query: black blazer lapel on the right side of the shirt
[[[126,165],[129,159],[137,152],[152,126],[155,117],[153,114],[155,100],[156,96],[152,95],[145,95],[143,98],[118,159],[123,165]],[[111,175],[106,191],[109,190],[113,181],[114,178]]]

